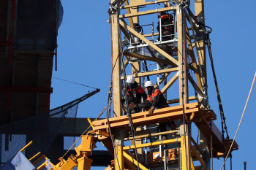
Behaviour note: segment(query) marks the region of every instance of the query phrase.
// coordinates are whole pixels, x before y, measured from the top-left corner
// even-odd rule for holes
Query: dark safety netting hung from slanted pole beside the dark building
[[[7,125],[1,125],[1,164],[10,160],[23,146],[31,141],[33,141],[33,144],[23,154],[28,158],[31,158],[32,155],[37,154],[39,151],[42,155],[47,155],[50,152],[49,148],[53,140],[58,139],[58,135],[61,134],[61,128],[64,127],[68,118],[76,118],[78,104],[98,92],[99,89],[94,90],[56,109]],[[75,140],[75,128],[70,127],[70,129],[74,130],[74,136],[71,139]],[[60,157],[62,153],[57,154]]]

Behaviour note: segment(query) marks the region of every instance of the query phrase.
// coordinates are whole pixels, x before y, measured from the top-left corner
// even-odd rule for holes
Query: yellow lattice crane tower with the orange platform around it
[[[93,130],[113,136],[99,141],[113,154],[115,169],[211,169],[210,158],[225,157],[230,147],[232,140],[214,124],[217,115],[208,104],[204,3],[191,3],[110,0],[113,117],[94,121]],[[141,86],[154,82],[169,106],[153,115],[147,110],[130,114],[130,75]],[[154,125],[173,121],[176,128],[154,131]],[[200,143],[192,138],[192,125],[200,131]],[[232,150],[237,149],[233,145]]]

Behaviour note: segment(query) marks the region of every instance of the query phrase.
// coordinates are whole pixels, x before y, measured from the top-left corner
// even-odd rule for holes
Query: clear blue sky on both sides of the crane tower
[[[58,72],[53,71],[53,77],[100,88],[99,93],[80,104],[78,109],[78,117],[97,117],[107,105],[110,85],[111,39],[110,24],[106,22],[109,19],[109,1],[61,2],[64,7],[64,18],[58,36]],[[256,70],[256,24],[253,12],[255,5],[255,1],[247,1],[246,4],[237,0],[205,2],[206,26],[213,28],[211,47],[214,66],[227,117],[227,128],[232,139]],[[154,22],[155,20],[157,16]],[[214,80],[209,60],[207,62],[209,102],[211,109],[217,114],[218,119],[215,123],[220,128]],[[51,109],[93,90],[55,79],[52,80],[52,87]],[[233,169],[244,169],[244,161],[247,161],[247,169],[253,169],[255,166],[256,148],[252,145],[256,139],[252,134],[256,120],[253,108],[255,101],[254,88],[236,138],[239,150],[233,152]],[[99,149],[103,149],[101,145],[97,144]],[[214,169],[220,169],[222,162],[222,158],[214,159]],[[230,161],[227,162],[227,169],[229,164]]]

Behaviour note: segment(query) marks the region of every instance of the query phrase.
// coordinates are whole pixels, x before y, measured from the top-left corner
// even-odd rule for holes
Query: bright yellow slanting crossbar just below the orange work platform
[[[174,144],[174,143],[178,143],[178,142],[181,142],[180,138],[169,139],[169,140],[158,141],[158,142],[150,142],[150,143],[146,143],[146,144],[138,144],[138,145],[136,145],[136,148],[138,149],[138,148],[143,148],[143,147],[154,147],[157,145]],[[135,149],[134,145],[123,147],[123,150],[133,150],[133,149]]]

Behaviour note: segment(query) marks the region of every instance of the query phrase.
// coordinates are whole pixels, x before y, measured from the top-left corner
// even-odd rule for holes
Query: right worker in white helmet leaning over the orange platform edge
[[[142,104],[138,104],[138,107],[140,108],[150,108],[148,109],[148,115],[152,115],[154,112],[154,109],[162,109],[165,107],[169,107],[167,104],[167,100],[165,97],[162,95],[161,90],[158,88],[154,88],[154,84],[151,81],[146,81],[145,82],[145,89],[146,92],[148,93],[148,98],[146,99],[145,102]],[[171,130],[176,129],[176,125],[173,121],[169,123],[159,123],[159,131],[167,131],[167,127],[170,128]],[[162,140],[167,139],[166,135],[163,135]]]

